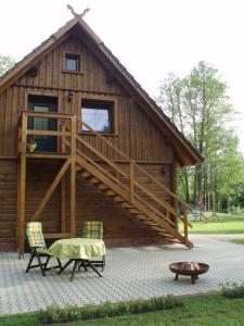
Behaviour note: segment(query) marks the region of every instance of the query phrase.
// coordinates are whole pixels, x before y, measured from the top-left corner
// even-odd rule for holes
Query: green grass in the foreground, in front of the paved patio
[[[182,299],[183,308],[159,311],[154,313],[143,313],[138,315],[124,315],[103,319],[87,322],[73,322],[55,325],[82,325],[82,326],[115,326],[115,325],[243,325],[244,321],[244,299],[228,299],[220,294],[208,294],[189,297]],[[41,325],[38,321],[38,313],[18,316],[1,317],[1,326],[15,325]]]

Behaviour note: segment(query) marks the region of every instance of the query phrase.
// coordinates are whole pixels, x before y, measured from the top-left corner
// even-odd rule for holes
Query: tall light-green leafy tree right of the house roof
[[[200,62],[184,78],[169,74],[159,86],[156,101],[205,159],[201,166],[178,174],[184,199],[202,202],[204,191],[230,189],[230,183],[222,185],[220,162],[221,166],[229,166],[227,152],[231,152],[232,163],[240,162],[241,158],[237,139],[228,126],[234,115],[233,108],[218,71]]]

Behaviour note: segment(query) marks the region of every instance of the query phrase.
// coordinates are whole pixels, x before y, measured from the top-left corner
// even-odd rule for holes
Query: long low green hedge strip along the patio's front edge
[[[150,300],[128,301],[121,303],[105,303],[102,305],[87,306],[50,306],[40,312],[39,319],[44,324],[87,321],[94,318],[104,318],[124,314],[138,314],[143,312],[153,312],[158,310],[168,310],[182,306],[183,302],[175,297],[154,298]]]

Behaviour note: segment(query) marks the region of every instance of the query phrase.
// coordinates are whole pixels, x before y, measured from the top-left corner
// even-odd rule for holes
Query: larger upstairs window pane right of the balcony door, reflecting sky
[[[113,134],[113,102],[82,100],[81,120],[93,130],[103,134]],[[81,131],[89,131],[89,129],[82,125]]]

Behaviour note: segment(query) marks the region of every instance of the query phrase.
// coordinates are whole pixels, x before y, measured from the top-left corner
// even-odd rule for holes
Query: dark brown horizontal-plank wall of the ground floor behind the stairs
[[[144,166],[145,164],[143,164]],[[46,163],[28,163],[27,166],[27,193],[26,193],[26,221],[35,212],[42,196],[50,186],[50,181],[57,174],[60,166]],[[123,168],[123,166],[121,166]],[[146,170],[154,177],[159,176],[160,165],[149,164]],[[140,178],[142,184],[147,184],[146,178]],[[154,193],[157,192],[153,185],[146,185]],[[68,190],[68,189],[67,189]],[[158,196],[158,193],[157,193]],[[61,193],[55,190],[50,202],[41,213],[39,221],[43,224],[44,233],[61,231]],[[16,162],[14,160],[0,160],[0,250],[15,249],[16,235]],[[130,246],[162,243],[163,239],[147,226],[137,221],[126,210],[117,206],[113,200],[97,190],[85,179],[77,180],[77,236],[81,235],[85,221],[102,221],[104,223],[104,238],[107,246]],[[68,221],[68,199],[66,201],[66,218]],[[69,227],[67,223],[67,227]],[[134,236],[137,235],[137,236]]]

